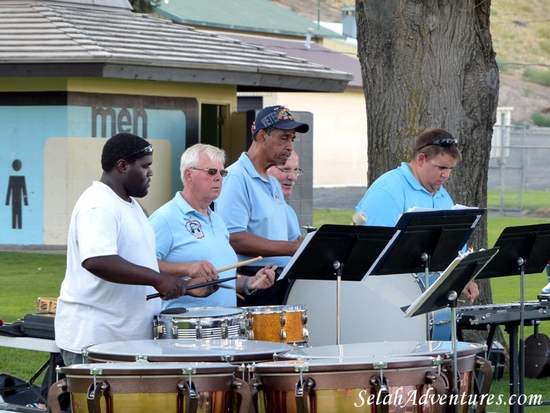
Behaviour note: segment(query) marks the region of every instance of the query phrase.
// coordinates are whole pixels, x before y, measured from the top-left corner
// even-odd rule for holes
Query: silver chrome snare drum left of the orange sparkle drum
[[[155,339],[242,339],[245,312],[238,307],[168,308],[153,321]]]

